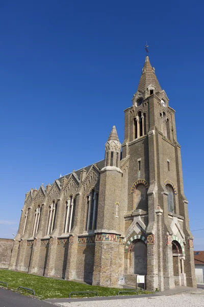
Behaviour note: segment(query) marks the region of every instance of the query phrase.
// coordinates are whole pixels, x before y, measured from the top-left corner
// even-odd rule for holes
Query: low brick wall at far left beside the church
[[[0,238],[0,268],[8,269],[11,259],[13,239]]]

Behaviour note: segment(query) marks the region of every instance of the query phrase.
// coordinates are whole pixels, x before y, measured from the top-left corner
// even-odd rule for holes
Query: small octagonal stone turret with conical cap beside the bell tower
[[[106,150],[105,167],[119,168],[121,144],[119,142],[115,126],[113,126],[111,130],[110,136],[105,145],[105,150]]]

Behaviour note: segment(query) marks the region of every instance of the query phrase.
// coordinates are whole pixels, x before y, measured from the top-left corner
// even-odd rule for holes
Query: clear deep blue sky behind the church
[[[1,1],[0,237],[16,233],[25,193],[104,158],[149,45],[176,110],[191,230],[203,216],[203,2]],[[204,230],[194,248],[204,249]]]

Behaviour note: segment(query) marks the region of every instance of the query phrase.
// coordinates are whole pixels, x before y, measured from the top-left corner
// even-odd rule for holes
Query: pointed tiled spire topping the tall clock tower
[[[155,74],[155,68],[151,67],[151,64],[149,62],[149,57],[146,56],[144,67],[142,69],[142,75],[140,77],[140,82],[137,90],[144,92],[146,91],[147,87],[150,84],[155,86],[158,91],[162,91],[159,81]]]

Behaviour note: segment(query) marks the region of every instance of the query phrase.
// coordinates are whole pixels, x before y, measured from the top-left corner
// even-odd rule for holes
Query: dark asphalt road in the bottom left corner
[[[0,307],[52,307],[55,304],[46,303],[37,298],[24,296],[19,293],[12,292],[0,288]]]

